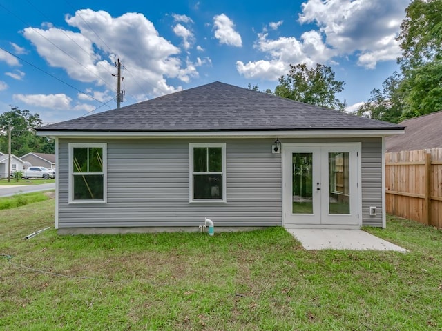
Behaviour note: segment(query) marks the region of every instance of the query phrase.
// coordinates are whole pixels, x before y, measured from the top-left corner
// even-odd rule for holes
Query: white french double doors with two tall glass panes
[[[284,226],[360,225],[358,144],[283,146]]]

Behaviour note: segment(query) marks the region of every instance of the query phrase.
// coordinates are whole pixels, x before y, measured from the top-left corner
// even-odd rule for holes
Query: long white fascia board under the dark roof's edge
[[[45,131],[37,135],[51,138],[320,138],[320,137],[386,137],[403,134],[405,130],[306,130],[306,131]]]

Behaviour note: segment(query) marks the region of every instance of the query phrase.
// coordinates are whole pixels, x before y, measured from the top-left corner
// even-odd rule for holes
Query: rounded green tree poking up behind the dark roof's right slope
[[[329,66],[316,64],[316,68],[307,68],[306,63],[290,65],[289,73],[278,81],[275,94],[279,97],[334,110],[345,109],[345,101],[336,98],[336,94],[344,90],[345,83],[336,81]]]

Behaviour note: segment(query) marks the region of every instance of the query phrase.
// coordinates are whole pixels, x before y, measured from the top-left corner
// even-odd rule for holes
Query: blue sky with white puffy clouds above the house
[[[398,69],[409,0],[0,0],[0,113],[44,123],[204,83],[273,88],[289,64],[331,66],[348,110]],[[98,108],[98,109],[97,109]]]

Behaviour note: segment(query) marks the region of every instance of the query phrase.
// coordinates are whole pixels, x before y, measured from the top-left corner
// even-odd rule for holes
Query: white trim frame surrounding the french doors
[[[287,194],[287,185],[290,185],[290,179],[287,179],[287,164],[288,164],[288,157],[285,153],[285,151],[288,148],[318,148],[318,147],[324,147],[324,148],[332,148],[339,146],[351,146],[356,148],[356,181],[357,181],[357,197],[356,197],[356,213],[358,215],[357,224],[352,225],[333,225],[333,224],[293,224],[290,223],[290,228],[345,228],[345,229],[354,229],[354,228],[361,228],[362,225],[362,155],[361,155],[361,142],[346,142],[346,143],[282,143],[281,144],[281,165],[282,165],[282,226],[288,225],[288,212],[289,212],[289,206],[287,206],[287,197],[285,194]],[[291,214],[291,213],[290,213]]]

